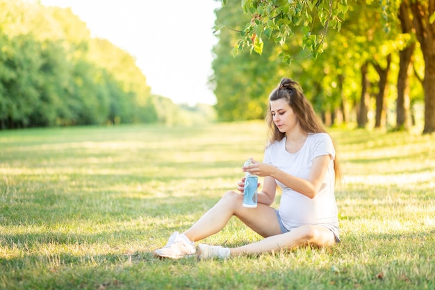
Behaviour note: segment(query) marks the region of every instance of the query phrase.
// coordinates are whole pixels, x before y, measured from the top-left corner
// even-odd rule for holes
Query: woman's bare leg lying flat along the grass
[[[334,234],[320,225],[304,225],[285,234],[269,236],[266,239],[238,248],[231,248],[231,255],[260,254],[273,250],[297,248],[299,245],[313,244],[320,247],[334,245]]]

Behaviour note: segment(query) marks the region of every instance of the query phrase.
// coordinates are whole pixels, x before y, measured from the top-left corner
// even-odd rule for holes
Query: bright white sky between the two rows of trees
[[[136,58],[151,92],[173,102],[215,104],[208,88],[215,0],[40,0],[70,7],[92,36]]]

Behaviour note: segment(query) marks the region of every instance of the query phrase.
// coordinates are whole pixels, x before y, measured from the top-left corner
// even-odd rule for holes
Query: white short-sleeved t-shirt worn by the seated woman
[[[279,215],[286,229],[302,225],[325,225],[338,229],[338,211],[334,195],[336,152],[331,137],[326,133],[309,134],[302,148],[294,154],[286,150],[286,137],[265,149],[264,163],[303,179],[309,177],[313,159],[328,154],[331,160],[327,174],[315,198],[308,198],[276,181],[282,188]]]

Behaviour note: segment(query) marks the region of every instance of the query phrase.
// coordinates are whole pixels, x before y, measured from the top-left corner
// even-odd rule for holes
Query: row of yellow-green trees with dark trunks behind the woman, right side
[[[366,127],[374,111],[386,127],[391,108],[395,127],[409,129],[424,102],[424,133],[435,131],[434,0],[223,2],[211,77],[222,120],[263,118],[268,93],[290,76],[329,124]]]

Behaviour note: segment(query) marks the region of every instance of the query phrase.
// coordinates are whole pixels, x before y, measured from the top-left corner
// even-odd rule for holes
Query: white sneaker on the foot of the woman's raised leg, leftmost
[[[188,242],[178,232],[173,232],[165,247],[154,251],[154,257],[180,259],[195,255],[195,252],[195,243]]]

